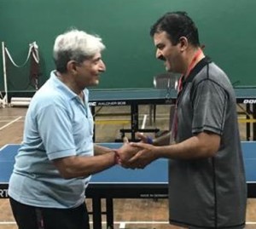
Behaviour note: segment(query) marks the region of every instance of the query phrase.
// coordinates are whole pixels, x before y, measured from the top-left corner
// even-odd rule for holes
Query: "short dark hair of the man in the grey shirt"
[[[200,46],[198,30],[194,21],[186,12],[168,12],[157,20],[150,29],[150,36],[154,33],[166,31],[173,45],[179,42],[180,37],[187,37],[190,44]]]

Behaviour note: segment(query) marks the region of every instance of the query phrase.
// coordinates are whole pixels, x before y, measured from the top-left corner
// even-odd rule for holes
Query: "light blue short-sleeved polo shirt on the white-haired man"
[[[65,180],[53,159],[93,155],[93,118],[78,94],[51,72],[33,96],[26,113],[24,139],[15,157],[9,196],[20,203],[49,208],[73,208],[84,202],[90,177]]]

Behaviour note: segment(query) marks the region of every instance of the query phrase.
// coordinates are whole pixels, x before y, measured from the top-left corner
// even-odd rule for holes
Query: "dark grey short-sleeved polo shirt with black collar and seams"
[[[193,228],[243,228],[247,190],[236,96],[211,60],[201,60],[183,82],[177,119],[177,142],[201,132],[219,135],[221,142],[214,157],[170,161],[170,221]]]

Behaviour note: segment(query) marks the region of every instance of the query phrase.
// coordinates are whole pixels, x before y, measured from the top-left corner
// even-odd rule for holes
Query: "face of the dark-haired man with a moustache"
[[[166,31],[154,33],[153,38],[156,47],[156,58],[165,62],[167,72],[179,72],[181,57],[179,43],[173,45]]]

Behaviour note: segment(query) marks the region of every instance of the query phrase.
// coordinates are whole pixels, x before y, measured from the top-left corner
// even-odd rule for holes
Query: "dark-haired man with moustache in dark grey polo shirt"
[[[139,143],[125,167],[169,163],[170,222],[189,228],[245,226],[247,186],[229,78],[201,49],[198,30],[184,12],[167,13],[150,31],[166,71],[181,73],[170,135]],[[171,137],[171,140],[170,140]],[[130,151],[131,153],[131,151]],[[119,150],[124,157],[125,148]],[[128,153],[127,153],[128,155]]]

